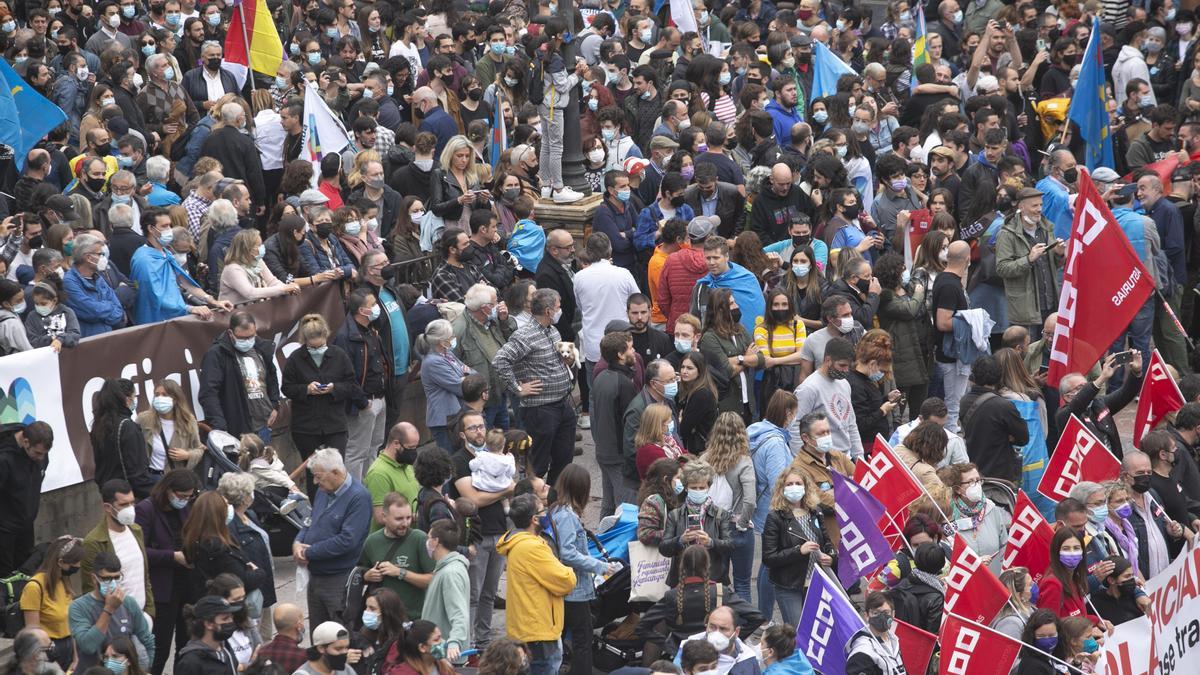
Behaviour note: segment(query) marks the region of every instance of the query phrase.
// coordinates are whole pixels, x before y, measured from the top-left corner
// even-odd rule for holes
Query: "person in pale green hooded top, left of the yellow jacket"
[[[458,552],[458,526],[443,519],[430,526],[425,539],[436,566],[430,587],[425,590],[421,617],[442,629],[446,658],[458,659],[458,652],[470,645],[470,562]]]

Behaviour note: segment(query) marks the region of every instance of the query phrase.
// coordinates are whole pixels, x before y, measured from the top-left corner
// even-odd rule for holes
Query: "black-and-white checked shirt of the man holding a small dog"
[[[545,328],[532,321],[518,328],[504,344],[492,369],[505,389],[521,393],[521,383],[541,381],[541,393],[521,398],[521,407],[557,404],[571,393],[571,374],[566,371],[563,357],[558,356],[558,344],[563,338],[554,324]]]

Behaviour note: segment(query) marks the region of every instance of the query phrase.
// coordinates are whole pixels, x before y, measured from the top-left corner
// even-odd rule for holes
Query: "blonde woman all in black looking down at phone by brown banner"
[[[329,339],[319,313],[300,319],[300,345],[283,364],[280,392],[292,401],[292,441],[307,460],[322,447],[344,448],[348,438],[346,401],[358,396],[350,357]]]

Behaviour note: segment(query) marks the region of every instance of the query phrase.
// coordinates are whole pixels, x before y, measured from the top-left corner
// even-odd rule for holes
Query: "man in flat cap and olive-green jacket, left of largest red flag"
[[[1042,216],[1042,191],[1021,187],[1016,211],[996,235],[996,274],[1004,280],[1009,324],[1037,333],[1058,309],[1066,250],[1054,225]]]

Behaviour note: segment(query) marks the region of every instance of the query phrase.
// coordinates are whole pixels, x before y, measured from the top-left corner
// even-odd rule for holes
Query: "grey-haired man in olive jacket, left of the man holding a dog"
[[[484,418],[488,426],[509,428],[509,396],[499,374],[492,368],[496,352],[517,328],[509,307],[499,300],[496,288],[487,283],[475,283],[467,288],[463,300],[467,310],[454,319],[454,334],[458,345],[454,352],[479,375],[487,378]]]

